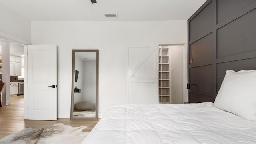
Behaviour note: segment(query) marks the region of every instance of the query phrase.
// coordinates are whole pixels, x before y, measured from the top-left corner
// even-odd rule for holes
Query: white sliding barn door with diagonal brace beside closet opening
[[[126,102],[159,102],[157,42],[126,44]]]

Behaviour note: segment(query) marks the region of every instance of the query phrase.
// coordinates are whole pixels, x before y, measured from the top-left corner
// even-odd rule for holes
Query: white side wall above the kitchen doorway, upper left
[[[31,41],[31,22],[0,4],[0,32]],[[1,36],[1,35],[0,35]]]

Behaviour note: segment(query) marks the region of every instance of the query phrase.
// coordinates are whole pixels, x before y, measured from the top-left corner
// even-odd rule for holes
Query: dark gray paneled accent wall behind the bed
[[[229,69],[256,70],[256,0],[207,0],[188,19],[188,83],[199,102],[214,102]],[[197,101],[196,86],[188,98]]]

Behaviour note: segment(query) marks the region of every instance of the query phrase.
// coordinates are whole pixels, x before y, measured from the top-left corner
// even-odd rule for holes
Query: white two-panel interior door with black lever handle
[[[56,45],[28,45],[27,116],[29,120],[57,120]]]

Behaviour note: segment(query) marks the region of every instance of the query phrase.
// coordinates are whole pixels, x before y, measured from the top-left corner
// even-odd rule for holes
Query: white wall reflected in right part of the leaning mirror
[[[96,60],[84,61],[83,101],[96,102]]]

